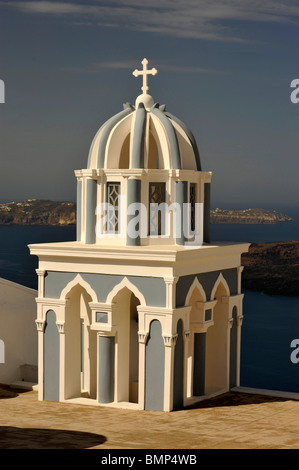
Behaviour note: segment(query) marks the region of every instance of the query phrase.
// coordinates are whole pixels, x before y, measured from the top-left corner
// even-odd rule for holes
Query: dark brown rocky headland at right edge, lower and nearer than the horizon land
[[[299,241],[252,243],[242,265],[244,289],[299,296]]]

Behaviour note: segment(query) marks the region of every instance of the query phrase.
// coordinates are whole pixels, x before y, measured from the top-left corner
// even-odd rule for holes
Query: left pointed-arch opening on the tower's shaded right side
[[[201,331],[203,320],[203,302],[206,301],[205,292],[201,284],[195,279],[186,298],[186,305],[190,310],[190,341],[188,342],[187,359],[187,396],[201,396],[205,394],[205,359],[206,359],[206,333]]]

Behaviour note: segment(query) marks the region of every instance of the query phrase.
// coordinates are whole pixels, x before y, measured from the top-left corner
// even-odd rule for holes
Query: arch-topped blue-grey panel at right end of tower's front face
[[[145,348],[145,409],[164,409],[164,367],[165,346],[162,328],[158,320],[153,320]]]

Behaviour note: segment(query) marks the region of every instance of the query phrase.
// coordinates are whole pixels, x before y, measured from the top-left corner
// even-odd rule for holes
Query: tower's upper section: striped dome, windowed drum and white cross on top
[[[142,76],[142,94],[100,127],[87,168],[75,172],[77,240],[199,246],[209,239],[211,173],[201,170],[190,129],[148,94],[148,75],[158,72],[141,63],[133,75]]]

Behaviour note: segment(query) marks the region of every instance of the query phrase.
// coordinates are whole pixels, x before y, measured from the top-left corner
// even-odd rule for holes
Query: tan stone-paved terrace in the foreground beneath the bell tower
[[[230,392],[171,413],[0,387],[0,449],[299,449],[299,401]]]

